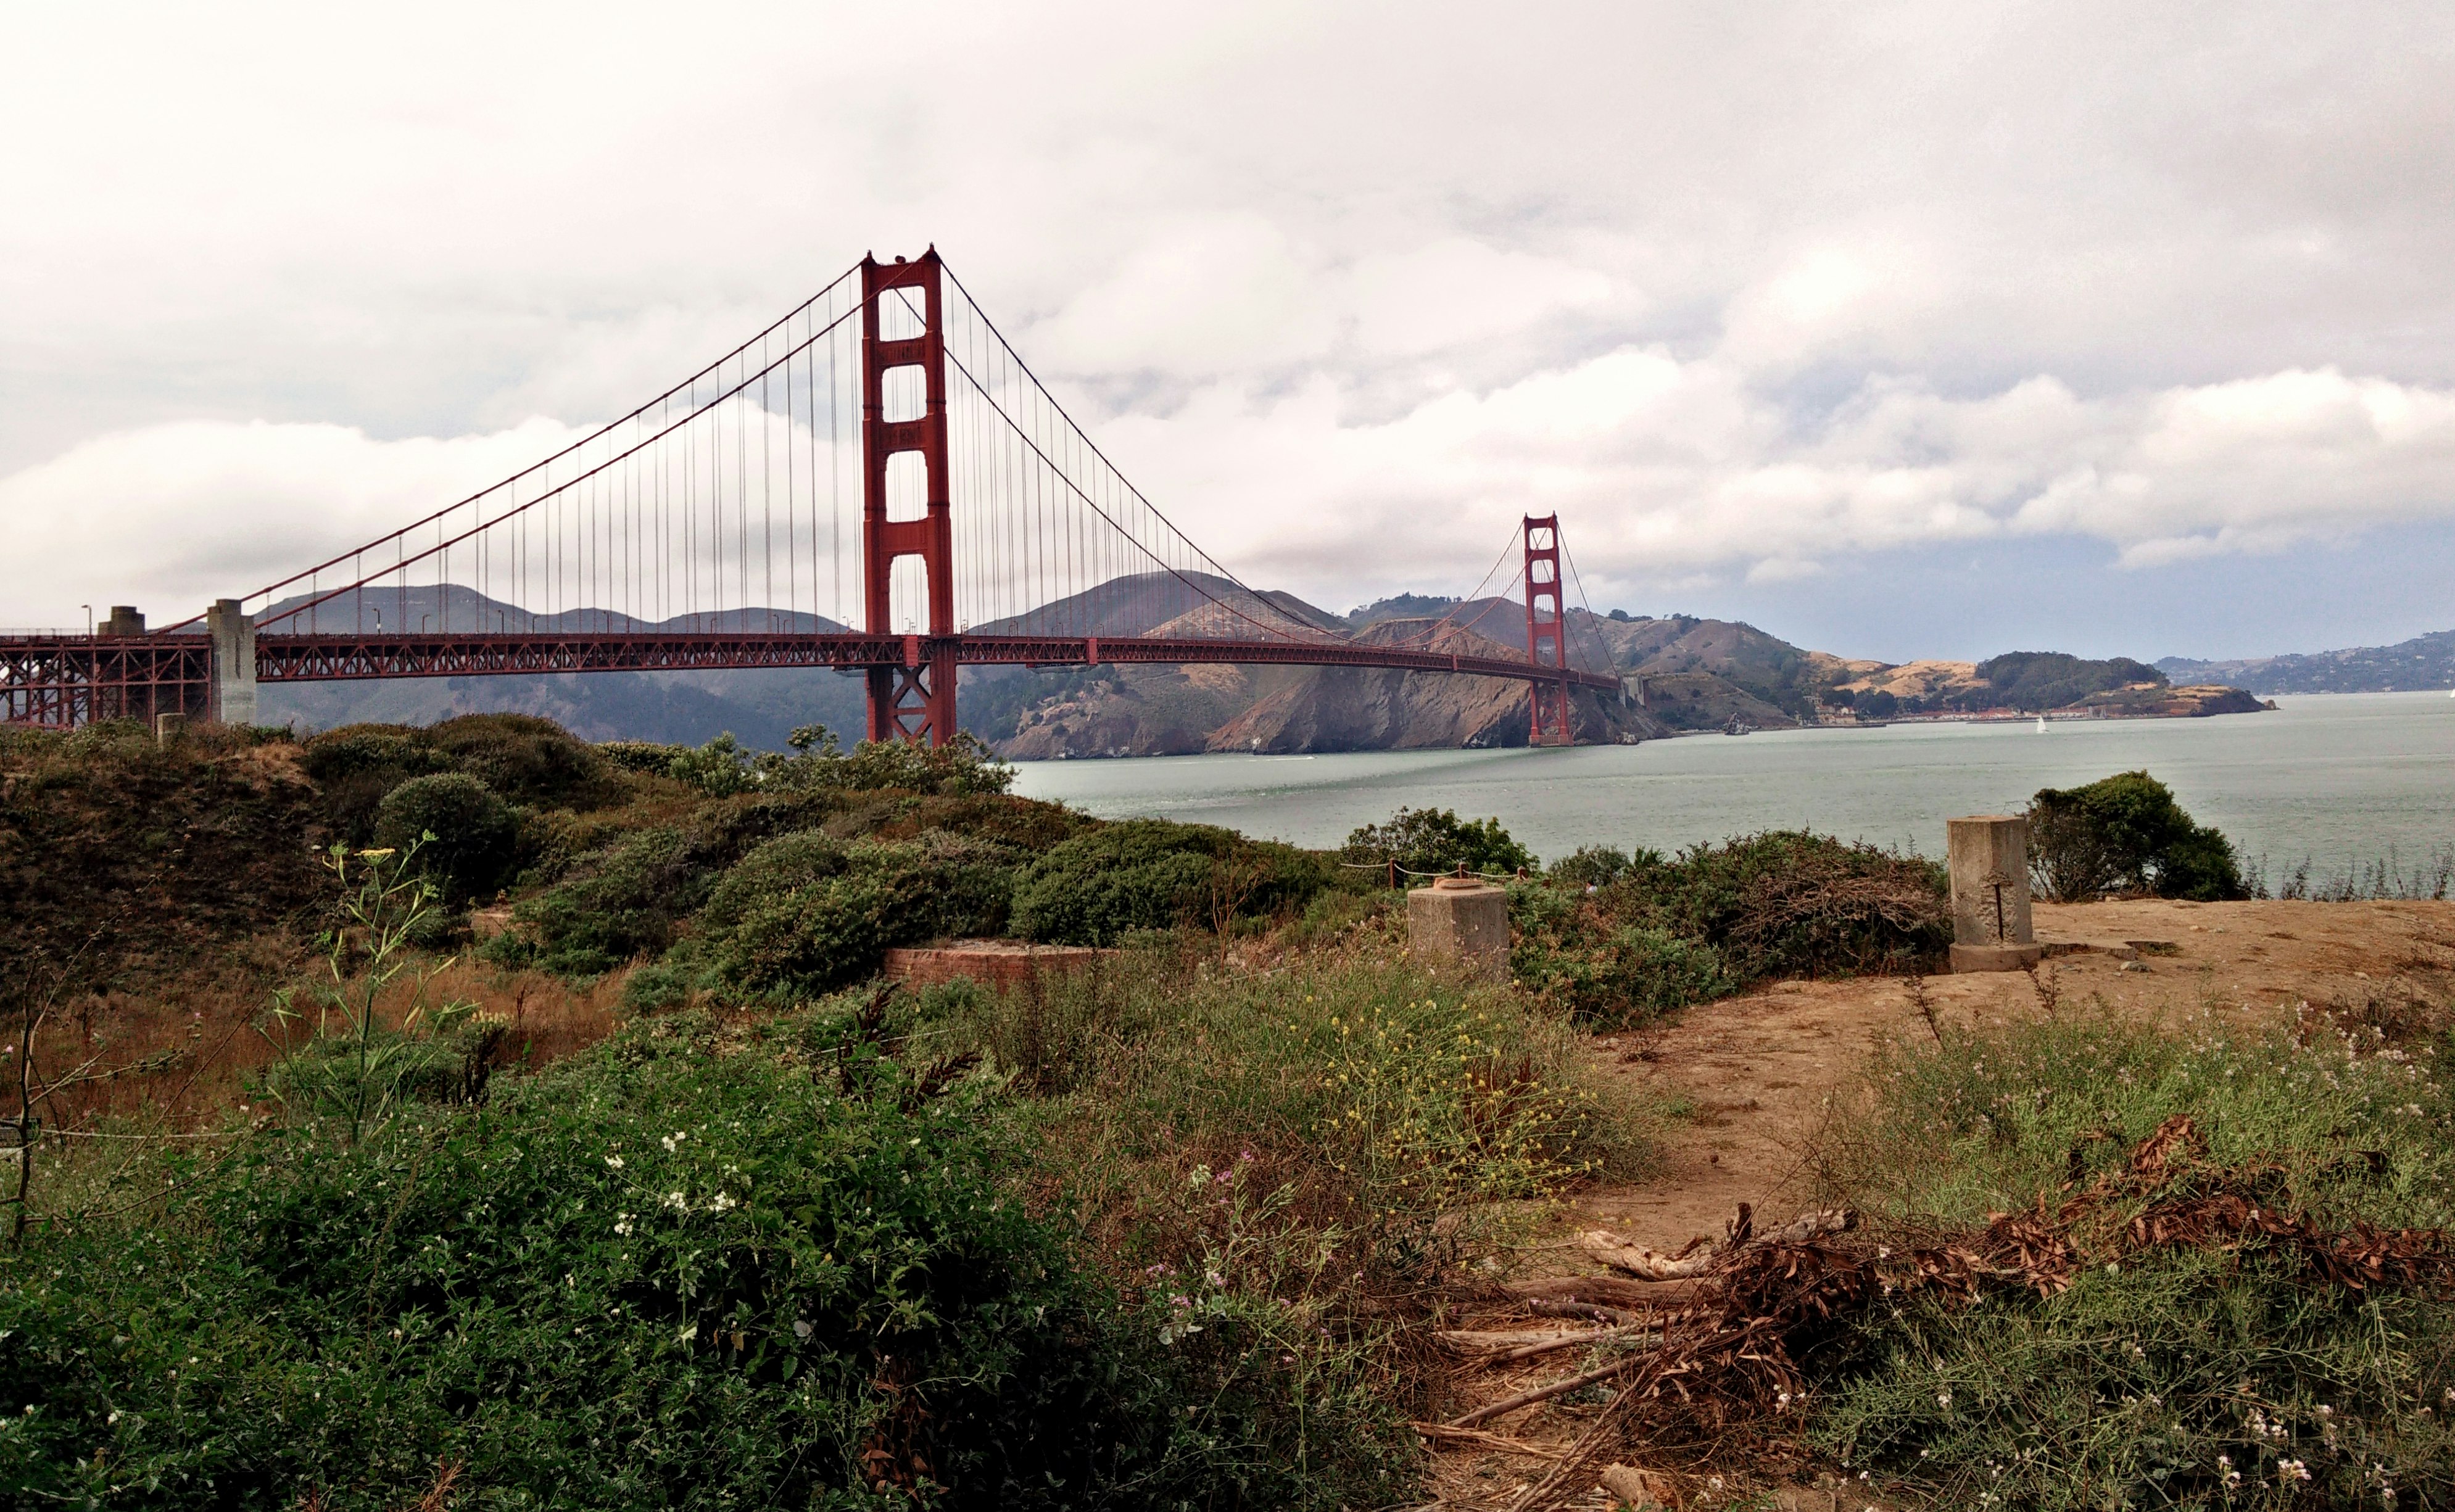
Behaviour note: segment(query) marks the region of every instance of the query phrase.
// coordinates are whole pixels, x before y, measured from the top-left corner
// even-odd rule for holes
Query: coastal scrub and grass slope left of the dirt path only
[[[1412,965],[1328,857],[1100,825],[965,746],[557,736],[10,749],[7,798],[86,795],[96,857],[160,822],[130,793],[231,803],[253,825],[206,827],[211,854],[241,876],[277,854],[295,903],[177,935],[263,984],[228,1028],[253,1060],[211,1060],[233,1041],[199,1024],[110,1065],[108,1028],[59,1016],[182,970],[128,965],[98,898],[61,891],[22,957],[42,989],[12,1004],[15,1065],[64,1070],[17,1119],[7,1485],[1385,1505],[1419,1475],[1407,1416],[1446,1389],[1409,1338],[1478,1247],[1647,1159],[1566,1019]],[[201,884],[184,864],[169,847],[137,891]],[[304,928],[314,950],[282,945]],[[1002,930],[1124,950],[1038,992],[867,982],[894,943]],[[543,1060],[518,1004],[557,979],[614,982],[626,1014]],[[214,1065],[238,1082],[201,1107],[81,1102]]]

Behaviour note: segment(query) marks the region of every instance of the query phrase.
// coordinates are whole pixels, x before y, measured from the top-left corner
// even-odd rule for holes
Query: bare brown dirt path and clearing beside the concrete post
[[[1939,1024],[2028,1019],[2055,997],[2143,1019],[2207,1011],[2264,1028],[2291,1024],[2305,1006],[2443,1001],[2455,982],[2455,903],[2040,903],[2035,923],[2038,940],[2074,950],[2047,960],[2035,979],[1927,977],[1925,997]],[[1925,1033],[1905,979],[1863,977],[1777,982],[1645,1031],[1596,1036],[1606,1078],[1633,1095],[1687,1105],[1691,1117],[1664,1132],[1664,1163],[1650,1181],[1583,1193],[1561,1242],[1527,1257],[1525,1274],[1598,1274],[1603,1267],[1571,1242],[1579,1230],[1674,1252],[1694,1237],[1721,1237],[1741,1203],[1755,1208],[1760,1225],[1792,1217],[1814,1198],[1807,1156],[1829,1102],[1849,1095],[1876,1043]],[[1591,1323],[1498,1311],[1471,1325],[1566,1333]],[[1466,1365],[1461,1394],[1468,1404],[1498,1402],[1574,1375],[1576,1360],[1566,1350],[1502,1367]],[[1495,1451],[1488,1441],[1434,1443],[1441,1505],[1505,1507],[1549,1468],[1532,1451],[1564,1448],[1593,1411],[1566,1402],[1478,1424],[1529,1453]],[[1726,1505],[1733,1492],[1711,1502]],[[1836,1490],[1773,1487],[1773,1497],[1802,1510],[1866,1507],[1863,1495]],[[1603,1507],[1608,1497],[1591,1490],[1566,1505]]]

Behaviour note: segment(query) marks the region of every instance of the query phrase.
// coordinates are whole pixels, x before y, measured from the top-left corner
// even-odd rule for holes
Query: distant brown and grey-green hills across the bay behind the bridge
[[[830,619],[768,609],[631,616],[619,609],[530,614],[471,589],[368,594],[368,621],[388,628],[503,626],[513,631],[624,628],[798,628],[837,631]],[[319,606],[322,628],[358,621],[341,596]],[[1517,599],[1439,599],[1402,594],[1348,616],[1294,594],[1245,589],[1225,577],[1139,572],[975,626],[980,633],[1046,636],[1237,636],[1255,623],[1343,628],[1375,641],[1525,655],[1525,604]],[[300,626],[309,628],[309,626]],[[2052,709],[2094,704],[2126,714],[2232,712],[2251,700],[2224,687],[2246,682],[2232,668],[2271,663],[2082,660],[2020,650],[1986,663],[1846,660],[1807,650],[1743,621],[1691,614],[1633,616],[1571,609],[1569,660],[1618,673],[1637,707],[1581,695],[1579,739],[1652,739],[1682,729],[1743,722],[1782,729],[1817,719],[1888,719],[1917,712]],[[2455,633],[2423,636],[2391,653],[2433,648],[2443,685],[2455,663]],[[2276,658],[2318,663],[2327,658]],[[2261,687],[2259,682],[2249,682]],[[2408,682],[2428,687],[2433,682]],[[2298,690],[2283,687],[2278,690]],[[452,714],[513,709],[545,714],[587,739],[700,744],[732,731],[756,749],[778,749],[800,724],[825,724],[854,739],[864,729],[864,682],[825,670],[739,673],[587,673],[552,677],[410,677],[385,682],[268,685],[270,722],[307,729],[383,719],[430,724]],[[1507,746],[1527,739],[1527,690],[1507,677],[1375,673],[1360,668],[1181,665],[1181,668],[965,668],[957,692],[962,727],[1016,758],[1159,756],[1191,751],[1363,751],[1431,746]]]

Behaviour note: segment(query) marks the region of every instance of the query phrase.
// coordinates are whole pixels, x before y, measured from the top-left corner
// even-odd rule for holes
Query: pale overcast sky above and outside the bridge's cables
[[[1908,660],[2455,626],[2435,5],[0,0],[0,623],[157,619],[935,243],[1257,587]]]

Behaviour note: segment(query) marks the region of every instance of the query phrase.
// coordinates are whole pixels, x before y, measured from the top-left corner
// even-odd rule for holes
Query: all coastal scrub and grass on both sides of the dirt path
[[[2084,896],[2244,886],[2146,773],[2040,805]],[[1414,960],[1390,864],[1500,874],[1515,979]],[[0,731],[0,881],[27,1505],[1412,1505],[1424,1340],[1677,1112],[1588,1031],[1917,994],[1949,940],[1942,866],[1809,832],[1306,852],[970,744],[518,717]],[[1107,955],[879,982],[945,935]],[[1930,1016],[1809,1144],[1863,1225],[1699,1289],[1750,1352],[1647,1443],[1952,1507],[2455,1500],[2450,1053],[2438,1009]]]

